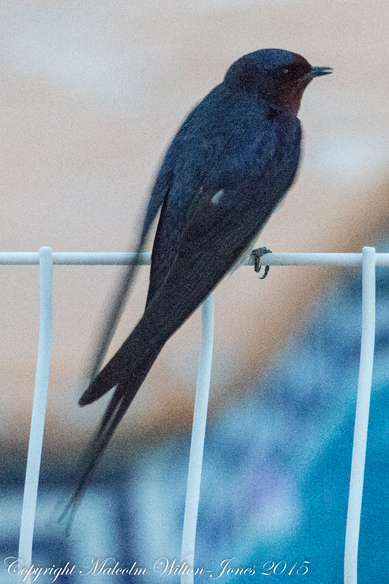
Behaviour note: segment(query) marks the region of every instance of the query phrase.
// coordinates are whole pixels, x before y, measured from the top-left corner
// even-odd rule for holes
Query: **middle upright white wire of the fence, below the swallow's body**
[[[190,443],[181,547],[181,559],[185,561],[187,568],[184,568],[181,574],[181,584],[193,584],[194,541],[196,540],[197,510],[199,509],[204,436],[211,378],[213,328],[214,297],[213,292],[211,292],[202,304],[202,336],[200,341],[199,369],[197,371],[196,398],[194,400],[192,441]],[[191,573],[185,573],[186,570],[191,571]]]

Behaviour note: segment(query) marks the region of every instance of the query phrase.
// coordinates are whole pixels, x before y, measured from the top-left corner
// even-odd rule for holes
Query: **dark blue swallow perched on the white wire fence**
[[[70,506],[82,498],[166,341],[252,248],[289,190],[300,158],[297,113],[303,92],[312,79],[331,72],[291,51],[253,51],[232,63],[223,81],[183,121],[152,187],[137,248],[138,255],[161,210],[143,316],[97,373],[104,348],[100,351],[93,380],[79,399],[85,406],[114,388]],[[103,347],[134,277],[134,265],[128,270]]]

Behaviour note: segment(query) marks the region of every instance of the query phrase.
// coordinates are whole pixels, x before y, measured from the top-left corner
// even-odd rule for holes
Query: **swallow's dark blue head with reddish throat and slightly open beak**
[[[232,63],[225,74],[224,84],[233,91],[258,95],[273,109],[297,116],[308,83],[331,71],[331,67],[312,67],[297,53],[265,48]]]

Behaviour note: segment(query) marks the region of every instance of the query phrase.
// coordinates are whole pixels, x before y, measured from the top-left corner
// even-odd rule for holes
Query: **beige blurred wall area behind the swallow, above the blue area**
[[[273,251],[360,251],[388,225],[385,2],[2,2],[0,250],[134,249],[165,148],[232,61],[280,47],[334,68],[300,110],[297,181],[260,239]],[[151,241],[150,241],[151,249]],[[116,267],[54,268],[45,442],[77,442],[104,404],[80,410],[79,381]],[[0,266],[2,438],[26,444],[39,328],[37,267]],[[339,270],[248,267],[216,291],[211,415],[251,387]],[[140,274],[110,354],[143,310]],[[119,435],[189,424],[199,315],[162,350]],[[158,427],[158,426],[162,426]],[[65,442],[64,442],[65,441]]]

